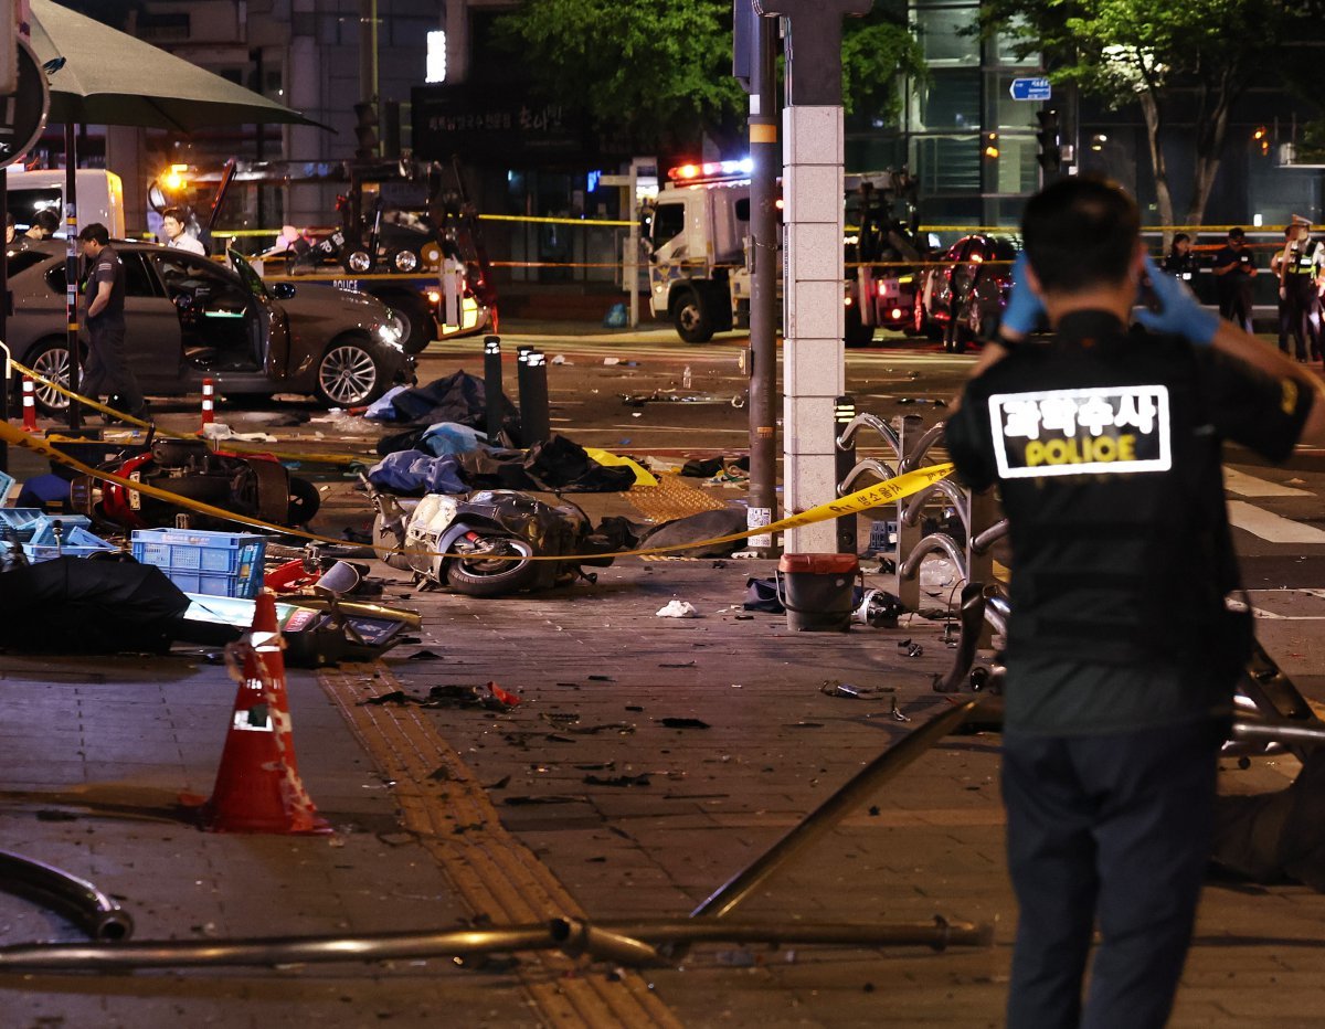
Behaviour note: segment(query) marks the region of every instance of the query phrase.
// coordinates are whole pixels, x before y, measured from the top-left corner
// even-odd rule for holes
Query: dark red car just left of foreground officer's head
[[[963,236],[925,270],[917,290],[914,331],[942,339],[949,354],[998,327],[1012,287],[1018,241],[1010,236]]]

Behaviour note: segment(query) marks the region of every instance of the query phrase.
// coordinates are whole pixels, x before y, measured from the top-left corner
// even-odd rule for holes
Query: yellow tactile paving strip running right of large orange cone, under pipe
[[[688,513],[693,510],[712,507]],[[379,771],[394,781],[403,826],[419,836],[476,915],[497,923],[584,916],[551,870],[506,832],[486,792],[428,716],[409,706],[363,705],[401,689],[386,665],[342,665],[318,678]],[[433,777],[443,767],[448,781]],[[539,951],[521,964],[519,977],[550,1026],[681,1026],[633,972],[608,980],[564,955]]]

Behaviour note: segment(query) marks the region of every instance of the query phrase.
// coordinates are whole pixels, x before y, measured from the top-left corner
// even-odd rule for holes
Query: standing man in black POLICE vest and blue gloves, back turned
[[[1003,342],[946,428],[966,483],[998,485],[1012,547],[1008,1025],[1162,1026],[1251,641],[1220,444],[1287,460],[1325,440],[1325,391],[1159,273],[1116,185],[1055,183],[1022,236]],[[1128,330],[1138,290],[1150,331]],[[1024,342],[1040,317],[1052,340]]]

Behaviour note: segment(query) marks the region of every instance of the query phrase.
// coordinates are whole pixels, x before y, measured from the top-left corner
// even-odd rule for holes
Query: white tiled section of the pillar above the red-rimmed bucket
[[[845,392],[841,106],[792,105],[782,124],[783,503],[795,514],[837,495],[833,401]],[[836,524],[792,528],[784,550],[832,554]]]

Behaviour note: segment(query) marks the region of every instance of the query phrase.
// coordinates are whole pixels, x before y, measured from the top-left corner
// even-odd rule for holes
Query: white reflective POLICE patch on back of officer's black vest
[[[1173,466],[1163,385],[995,393],[988,405],[1002,478],[1132,474]]]

